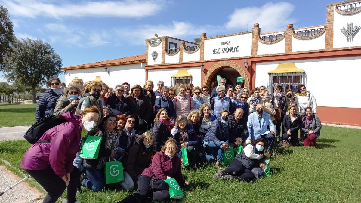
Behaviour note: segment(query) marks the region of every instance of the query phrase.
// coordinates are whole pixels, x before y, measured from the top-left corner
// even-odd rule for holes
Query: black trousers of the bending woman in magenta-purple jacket
[[[48,192],[45,196],[43,203],[53,203],[59,199],[63,194],[65,188],[67,188],[67,201],[68,203],[74,203],[76,201],[75,194],[77,193],[77,187],[80,179],[80,172],[77,167],[74,167],[73,172],[70,173],[70,181],[68,187],[62,178],[59,178],[54,173],[51,167],[43,170],[25,170],[31,177],[44,187]]]

